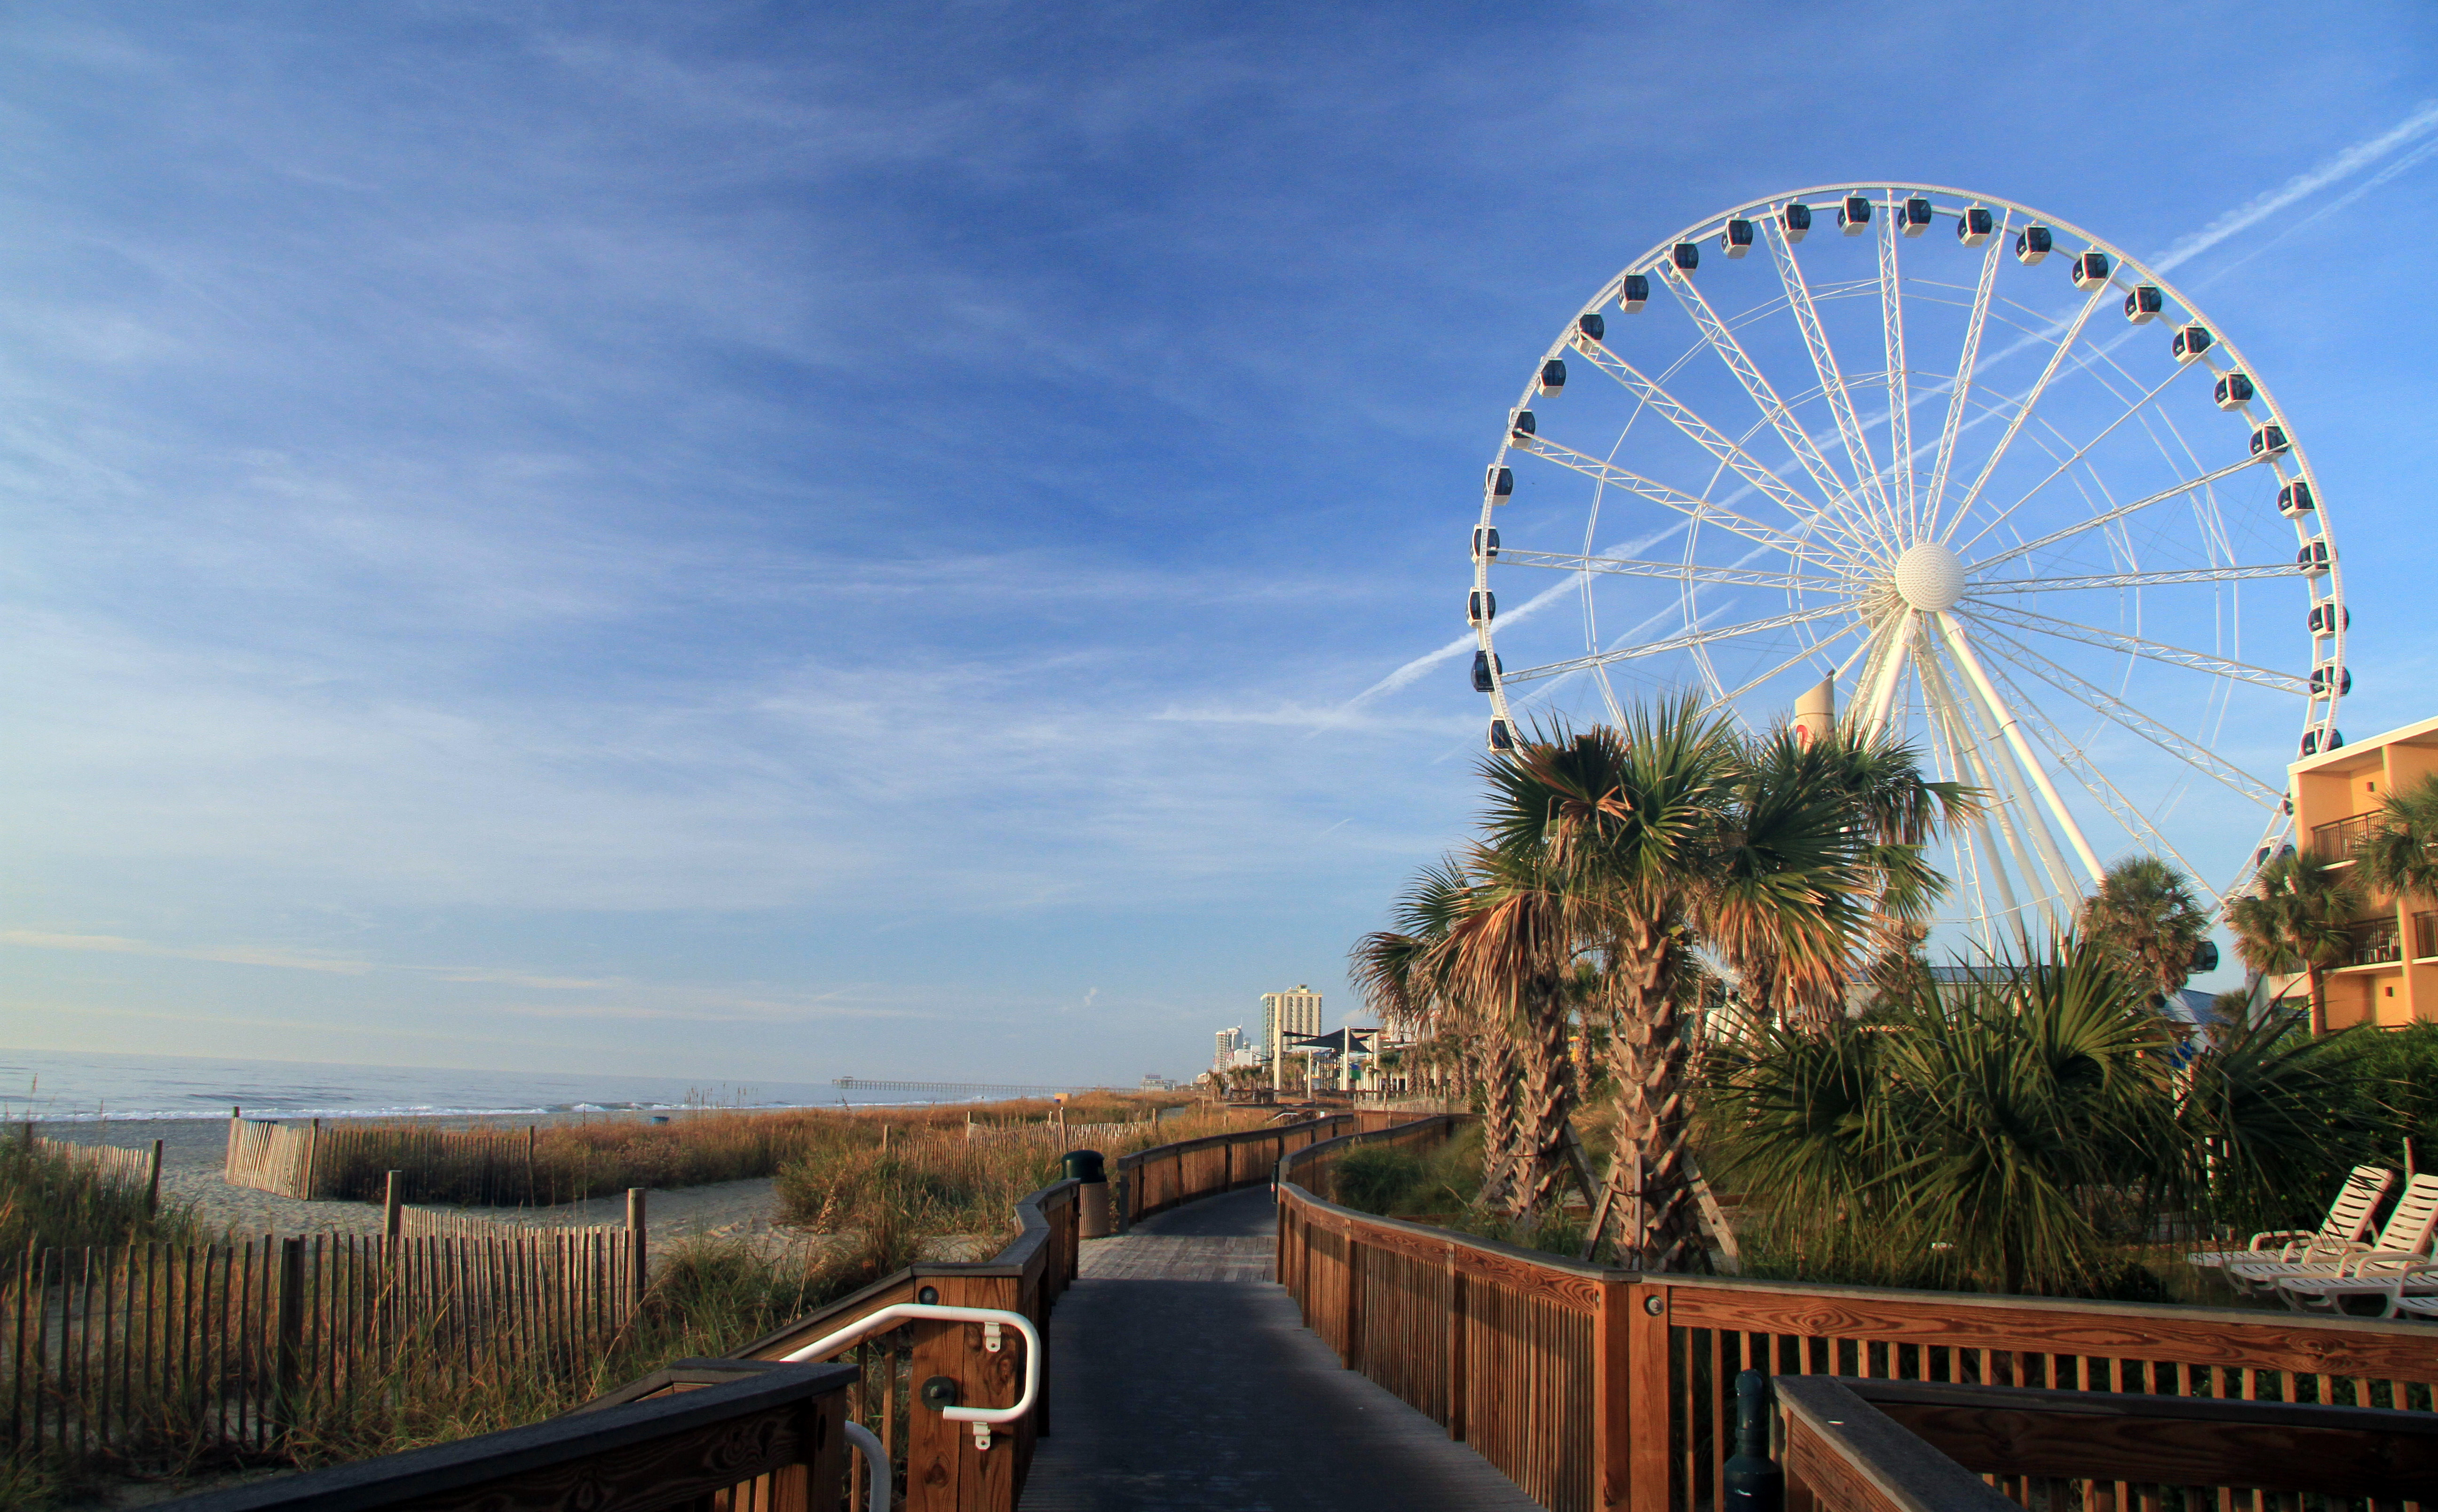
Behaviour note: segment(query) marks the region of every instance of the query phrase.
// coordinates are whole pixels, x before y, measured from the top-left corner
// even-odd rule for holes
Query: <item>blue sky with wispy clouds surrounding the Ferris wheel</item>
[[[10,1044],[1068,1080],[1346,1005],[1482,719],[1460,661],[1358,695],[1463,629],[1529,363],[1675,227],[1843,178],[2145,254],[2304,178],[2177,278],[2343,497],[2348,727],[2433,712],[2426,5],[34,5],[0,49]]]

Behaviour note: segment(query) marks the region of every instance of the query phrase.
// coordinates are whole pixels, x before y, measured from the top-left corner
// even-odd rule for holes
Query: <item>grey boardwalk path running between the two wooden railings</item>
[[[1536,1512],[1302,1327],[1270,1280],[1275,1224],[1251,1190],[1085,1244],[1024,1512]]]

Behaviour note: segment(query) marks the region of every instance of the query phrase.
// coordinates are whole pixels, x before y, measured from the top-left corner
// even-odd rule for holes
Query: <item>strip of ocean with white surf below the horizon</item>
[[[902,1093],[826,1083],[695,1083],[666,1075],[439,1071],[319,1061],[100,1056],[0,1049],[0,1122],[407,1117],[809,1107],[904,1102]]]

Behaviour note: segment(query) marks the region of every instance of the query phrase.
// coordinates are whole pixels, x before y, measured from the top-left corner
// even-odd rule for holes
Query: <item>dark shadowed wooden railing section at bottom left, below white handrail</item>
[[[839,1512],[851,1371],[690,1366],[658,1371],[636,1383],[641,1395],[592,1412],[205,1492],[176,1510]]]

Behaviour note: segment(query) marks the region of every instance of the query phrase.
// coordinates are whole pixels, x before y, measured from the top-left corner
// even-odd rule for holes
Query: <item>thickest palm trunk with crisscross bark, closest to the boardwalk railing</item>
[[[1685,1036],[1668,990],[1672,944],[1643,927],[1621,941],[1624,1012],[1609,1039],[1616,1068],[1616,1158],[1609,1166],[1609,1212],[1621,1217],[1619,1258],[1641,1271],[1675,1271],[1699,1253],[1685,1136],[1692,1097],[1685,1085]]]

